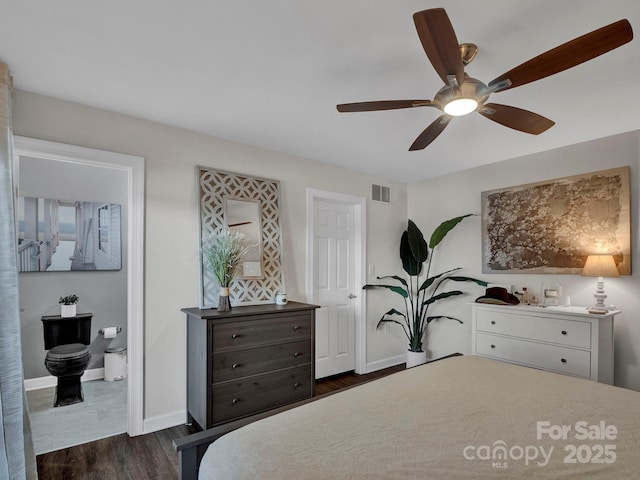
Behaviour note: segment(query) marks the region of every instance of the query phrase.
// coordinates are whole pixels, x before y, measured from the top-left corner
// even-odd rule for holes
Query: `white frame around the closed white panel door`
[[[315,262],[314,262],[314,226],[313,212],[315,203],[318,200],[324,200],[343,205],[350,205],[354,211],[355,224],[355,272],[354,282],[357,285],[364,285],[366,281],[366,265],[367,265],[367,199],[355,195],[347,195],[344,193],[330,192],[327,190],[319,190],[317,188],[307,188],[307,302],[315,302]],[[355,314],[355,372],[359,374],[366,373],[367,369],[367,311],[366,298],[364,290],[360,293],[354,292],[358,298],[354,299]],[[315,361],[315,359],[314,359]]]

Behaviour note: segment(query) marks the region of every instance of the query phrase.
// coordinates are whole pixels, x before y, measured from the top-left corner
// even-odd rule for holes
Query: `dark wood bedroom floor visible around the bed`
[[[316,382],[316,395],[404,370],[404,364],[367,375],[346,373]],[[174,438],[194,433],[180,425],[159,432],[129,437],[127,434],[38,455],[39,480],[176,480],[178,455]]]

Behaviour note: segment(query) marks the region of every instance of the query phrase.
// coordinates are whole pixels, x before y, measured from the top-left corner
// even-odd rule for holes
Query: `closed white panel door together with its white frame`
[[[316,378],[366,370],[366,199],[307,189],[307,292],[316,313]]]

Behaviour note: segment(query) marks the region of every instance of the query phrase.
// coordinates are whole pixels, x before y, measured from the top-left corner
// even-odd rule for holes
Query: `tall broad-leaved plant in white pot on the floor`
[[[408,280],[398,275],[383,276],[377,277],[378,280],[392,279],[396,284],[365,285],[363,287],[364,289],[388,289],[403,298],[403,311],[392,308],[382,316],[377,328],[380,328],[384,323],[395,323],[402,327],[409,341],[407,367],[426,362],[427,354],[422,346],[427,327],[433,320],[447,318],[463,323],[462,320],[449,315],[429,315],[429,307],[436,302],[464,294],[461,290],[444,291],[445,285],[449,282],[474,282],[481,286],[487,286],[487,282],[483,280],[455,275],[455,272],[460,268],[431,275],[434,249],[458,223],[471,215],[473,214],[462,215],[442,222],[431,234],[429,244],[425,241],[416,224],[409,220],[407,230],[400,238],[400,259],[402,260],[402,268],[409,277]],[[424,269],[425,262],[426,271]]]

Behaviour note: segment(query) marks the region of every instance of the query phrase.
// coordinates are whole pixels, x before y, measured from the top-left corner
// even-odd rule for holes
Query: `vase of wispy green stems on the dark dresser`
[[[250,245],[239,232],[231,233],[223,230],[213,234],[205,241],[202,252],[204,260],[220,287],[218,297],[218,311],[231,310],[229,287],[236,278],[238,270],[249,251]]]

